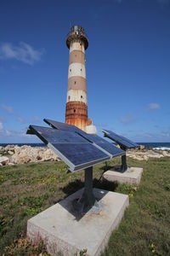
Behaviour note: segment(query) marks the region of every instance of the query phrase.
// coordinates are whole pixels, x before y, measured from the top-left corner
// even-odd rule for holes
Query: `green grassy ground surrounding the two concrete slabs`
[[[120,163],[112,160],[109,166]],[[130,197],[119,228],[111,235],[106,255],[170,255],[170,158],[139,162],[144,168],[139,188],[103,183],[105,164],[94,166],[94,187]],[[83,172],[66,174],[62,162],[42,162],[0,168],[0,255],[48,255],[40,242],[26,239],[28,218],[83,187]]]

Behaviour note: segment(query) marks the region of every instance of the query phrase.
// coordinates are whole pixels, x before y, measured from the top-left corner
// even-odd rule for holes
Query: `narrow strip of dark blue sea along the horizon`
[[[153,148],[157,150],[170,150],[170,143],[138,143],[144,145],[144,148]],[[46,147],[44,143],[0,143],[0,146],[6,147],[7,145],[18,145],[18,146],[31,146],[31,147]]]

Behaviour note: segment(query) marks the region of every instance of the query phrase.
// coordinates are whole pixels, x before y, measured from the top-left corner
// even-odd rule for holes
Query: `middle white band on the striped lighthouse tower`
[[[71,63],[69,66],[68,79],[71,77],[82,77],[86,79],[86,67],[82,63]]]

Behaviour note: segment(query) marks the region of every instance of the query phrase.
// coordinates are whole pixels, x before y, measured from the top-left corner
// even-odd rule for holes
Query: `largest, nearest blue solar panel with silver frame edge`
[[[71,172],[110,159],[108,154],[74,131],[62,131],[37,125],[30,125],[29,131],[36,134],[43,143],[58,154],[70,167]]]

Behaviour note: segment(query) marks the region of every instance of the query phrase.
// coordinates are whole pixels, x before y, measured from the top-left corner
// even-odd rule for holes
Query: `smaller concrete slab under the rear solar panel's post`
[[[139,185],[143,168],[128,167],[126,172],[117,172],[115,169],[109,170],[103,174],[103,177],[110,181],[119,183],[128,183]]]

